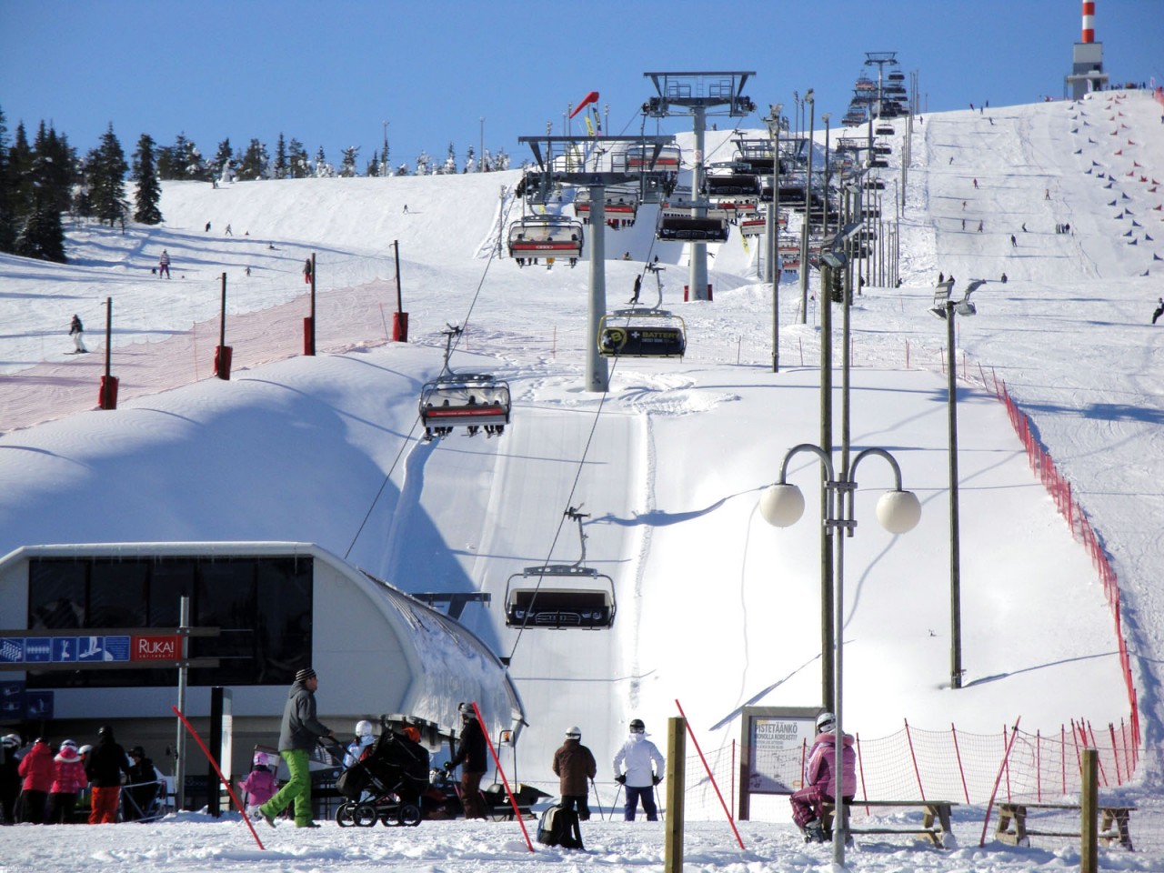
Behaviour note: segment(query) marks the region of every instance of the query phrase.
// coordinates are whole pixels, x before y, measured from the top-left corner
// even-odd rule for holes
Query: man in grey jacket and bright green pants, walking
[[[311,769],[308,757],[320,739],[336,743],[335,732],[315,717],[315,689],[319,677],[311,667],[299,670],[288,693],[279,729],[279,755],[288,764],[291,778],[278,793],[258,808],[258,814],[272,828],[275,816],[294,802],[294,826],[318,828],[311,817]]]

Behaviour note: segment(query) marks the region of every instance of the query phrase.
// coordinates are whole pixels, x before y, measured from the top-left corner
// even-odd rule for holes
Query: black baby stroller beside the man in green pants
[[[419,743],[384,731],[361,759],[335,782],[347,801],[335,811],[341,828],[420,824],[420,796],[428,788],[428,751]]]

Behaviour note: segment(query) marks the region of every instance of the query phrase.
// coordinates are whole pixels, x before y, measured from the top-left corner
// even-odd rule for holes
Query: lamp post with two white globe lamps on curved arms
[[[876,518],[878,521],[887,531],[894,534],[908,533],[917,526],[918,520],[922,517],[922,504],[917,499],[917,495],[913,491],[903,491],[901,488],[901,468],[897,466],[897,461],[892,454],[889,454],[883,448],[866,448],[858,453],[853,457],[852,464],[845,467],[842,466],[840,475],[833,475],[832,467],[832,452],[825,450],[819,446],[815,446],[810,442],[802,442],[799,446],[794,446],[785,455],[783,463],[780,466],[780,481],[773,485],[768,485],[760,495],[760,514],[764,516],[764,520],[775,527],[788,527],[800,520],[800,517],[804,513],[804,495],[796,485],[787,484],[786,478],[788,475],[788,463],[789,461],[801,452],[811,452],[819,457],[821,463],[824,466],[824,470],[828,474],[828,482],[825,485],[825,501],[822,504],[822,514],[824,526],[829,530],[836,530],[836,535],[833,540],[836,542],[837,549],[837,561],[836,561],[836,574],[835,574],[835,592],[833,592],[833,658],[836,660],[837,681],[835,683],[833,702],[832,702],[832,714],[836,716],[836,737],[837,737],[837,748],[843,750],[843,737],[844,731],[842,729],[842,656],[844,653],[843,632],[844,632],[844,570],[845,570],[845,538],[852,537],[853,531],[857,527],[857,519],[853,516],[853,492],[857,490],[857,480],[853,477],[857,473],[857,467],[860,464],[865,457],[868,455],[880,455],[889,466],[893,468],[894,475],[894,489],[892,491],[886,491],[881,495],[881,498],[876,504]],[[844,870],[845,867],[845,838],[846,838],[846,821],[845,821],[845,788],[842,785],[842,774],[844,773],[844,767],[838,760],[833,765],[833,786],[832,796],[833,803],[836,804],[836,810],[833,812],[833,826],[832,826],[832,864],[835,870]],[[849,786],[850,789],[856,789],[856,786]]]

